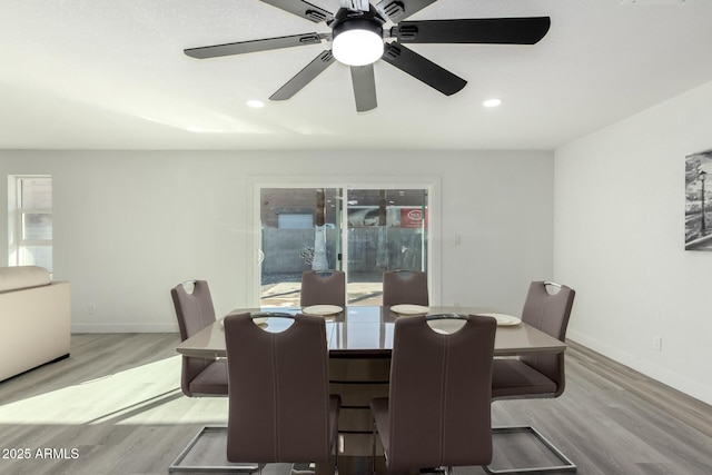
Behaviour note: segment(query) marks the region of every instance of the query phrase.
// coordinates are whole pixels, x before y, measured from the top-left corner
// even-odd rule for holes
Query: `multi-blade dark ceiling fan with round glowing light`
[[[325,22],[332,32],[189,48],[184,52],[206,59],[330,42],[330,49],[322,51],[269,99],[290,99],[336,60],[350,67],[356,110],[359,112],[377,106],[373,63],[378,59],[446,96],[459,91],[467,83],[406,48],[405,43],[534,44],[544,38],[551,24],[548,17],[404,21],[437,0],[376,0],[375,4],[368,0],[338,0],[340,8],[336,14],[305,0],[260,1],[315,23]],[[388,21],[393,27],[384,29]],[[388,39],[393,41],[385,41]]]

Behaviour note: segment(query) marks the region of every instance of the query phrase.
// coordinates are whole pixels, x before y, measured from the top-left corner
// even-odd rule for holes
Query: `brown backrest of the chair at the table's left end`
[[[192,284],[192,291],[188,293],[186,285],[190,283]],[[208,283],[205,280],[190,283],[178,284],[170,289],[181,342],[215,323],[215,308]],[[212,362],[214,359],[182,357],[180,388],[186,396],[192,396],[190,382]]]

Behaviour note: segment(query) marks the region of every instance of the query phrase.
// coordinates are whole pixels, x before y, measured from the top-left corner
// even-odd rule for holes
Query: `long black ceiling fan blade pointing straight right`
[[[534,44],[550,26],[548,17],[404,21],[390,34],[402,43]]]

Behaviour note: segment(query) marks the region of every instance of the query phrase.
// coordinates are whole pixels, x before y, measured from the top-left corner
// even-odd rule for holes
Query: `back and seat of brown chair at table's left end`
[[[192,288],[192,291],[188,291]],[[208,283],[188,280],[170,290],[176,308],[180,340],[185,342],[216,321]],[[182,357],[180,388],[186,396],[227,396],[225,359]]]

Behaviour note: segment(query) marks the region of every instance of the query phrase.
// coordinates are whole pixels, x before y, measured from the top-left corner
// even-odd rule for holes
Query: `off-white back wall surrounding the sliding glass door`
[[[0,151],[13,174],[53,176],[55,278],[72,284],[75,331],[177,330],[169,289],[189,278],[209,281],[218,314],[247,305],[260,175],[439,177],[444,304],[518,313],[528,281],[553,274],[552,152]]]

